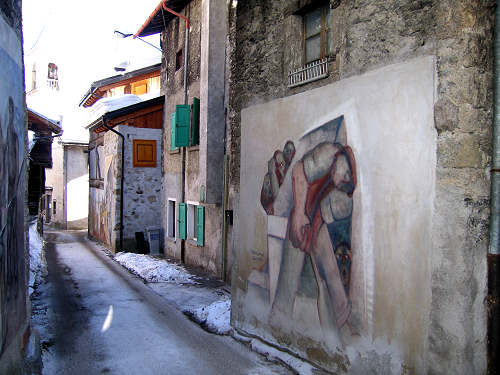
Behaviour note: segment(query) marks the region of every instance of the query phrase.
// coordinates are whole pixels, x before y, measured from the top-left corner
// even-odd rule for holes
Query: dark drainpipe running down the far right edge
[[[497,1],[494,34],[493,155],[491,160],[491,217],[488,249],[488,358],[487,373],[500,373],[500,4]]]

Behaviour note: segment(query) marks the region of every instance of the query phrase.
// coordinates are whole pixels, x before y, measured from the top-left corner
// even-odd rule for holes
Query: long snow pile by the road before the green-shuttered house
[[[184,267],[149,255],[120,252],[115,260],[148,282],[196,284]]]

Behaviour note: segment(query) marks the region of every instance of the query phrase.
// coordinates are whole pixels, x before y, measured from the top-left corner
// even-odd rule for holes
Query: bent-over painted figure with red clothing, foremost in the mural
[[[325,142],[297,162],[292,172],[293,210],[289,222],[292,245],[311,257],[318,283],[318,312],[328,298],[339,329],[347,324],[349,301],[352,194],[356,170],[349,146]],[[328,296],[323,295],[326,286]]]

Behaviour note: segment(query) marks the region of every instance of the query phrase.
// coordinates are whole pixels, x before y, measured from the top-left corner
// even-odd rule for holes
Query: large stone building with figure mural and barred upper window
[[[495,3],[229,3],[234,328],[334,373],[484,374]]]

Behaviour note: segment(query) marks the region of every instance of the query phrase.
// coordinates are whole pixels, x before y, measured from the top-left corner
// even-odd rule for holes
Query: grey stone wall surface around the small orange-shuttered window
[[[124,249],[135,251],[135,232],[144,232],[146,228],[160,229],[158,218],[161,217],[161,145],[160,129],[139,129],[120,125],[116,130],[125,136],[125,181],[123,210]],[[156,140],[156,167],[133,166],[133,140]],[[119,195],[117,196],[119,199]]]

